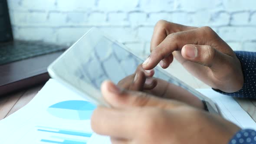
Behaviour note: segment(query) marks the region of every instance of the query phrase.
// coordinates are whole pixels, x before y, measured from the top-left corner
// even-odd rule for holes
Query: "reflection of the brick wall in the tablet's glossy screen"
[[[91,52],[89,60],[82,63],[75,75],[99,89],[101,83],[107,79],[117,84],[121,79],[133,74],[141,63],[141,59],[102,36]],[[157,69],[154,77],[174,83],[170,77]]]

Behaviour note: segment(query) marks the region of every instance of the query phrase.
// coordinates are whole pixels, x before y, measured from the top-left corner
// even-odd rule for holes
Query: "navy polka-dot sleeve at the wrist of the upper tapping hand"
[[[256,52],[235,51],[235,53],[243,70],[243,87],[233,93],[222,92],[218,89],[213,90],[238,98],[256,98]]]

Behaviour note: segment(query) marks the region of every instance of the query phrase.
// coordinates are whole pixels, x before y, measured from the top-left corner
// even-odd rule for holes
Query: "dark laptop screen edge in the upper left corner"
[[[7,0],[0,0],[0,42],[13,40]]]

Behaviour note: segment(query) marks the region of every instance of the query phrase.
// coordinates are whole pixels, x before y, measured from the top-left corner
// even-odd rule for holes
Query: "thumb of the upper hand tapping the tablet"
[[[212,70],[220,69],[230,59],[230,56],[207,45],[185,45],[181,49],[181,55],[184,59],[208,66]]]

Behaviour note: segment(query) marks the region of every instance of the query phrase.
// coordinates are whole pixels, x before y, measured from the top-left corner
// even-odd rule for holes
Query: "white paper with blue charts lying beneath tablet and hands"
[[[232,98],[212,89],[198,89],[217,103],[224,118],[241,128],[256,129],[252,118]],[[111,144],[93,133],[92,105],[50,79],[29,104],[0,121],[1,144]]]

